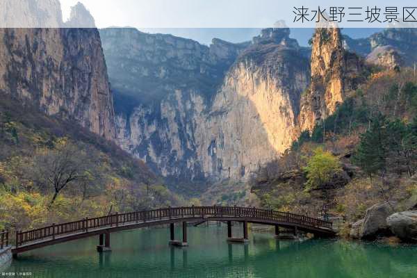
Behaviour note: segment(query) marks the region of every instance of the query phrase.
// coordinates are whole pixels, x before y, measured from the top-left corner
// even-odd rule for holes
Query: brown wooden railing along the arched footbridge
[[[158,208],[150,211],[134,211],[130,213],[115,213],[113,215],[98,218],[84,218],[82,220],[62,224],[51,224],[47,227],[30,231],[16,231],[16,247],[45,238],[55,239],[65,234],[85,233],[92,229],[106,227],[118,227],[128,223],[139,223],[172,218],[195,218],[195,217],[236,217],[251,218],[254,220],[270,220],[299,224],[311,228],[332,229],[332,222],[309,218],[304,215],[286,213],[280,211],[264,210],[239,206],[188,206],[179,208]]]

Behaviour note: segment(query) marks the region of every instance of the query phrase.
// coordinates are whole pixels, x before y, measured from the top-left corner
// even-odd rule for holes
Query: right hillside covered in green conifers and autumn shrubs
[[[332,115],[263,167],[252,179],[252,191],[268,208],[310,215],[329,208],[349,221],[363,218],[378,202],[401,204],[416,195],[416,89],[407,68],[370,75]],[[320,163],[323,156],[327,163]],[[323,169],[328,179],[317,178]]]

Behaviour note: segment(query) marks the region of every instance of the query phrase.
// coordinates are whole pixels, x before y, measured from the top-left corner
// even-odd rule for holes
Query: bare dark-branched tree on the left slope
[[[50,205],[65,188],[92,179],[91,165],[85,152],[65,142],[56,149],[38,150],[33,159],[35,180],[38,185],[54,193]]]

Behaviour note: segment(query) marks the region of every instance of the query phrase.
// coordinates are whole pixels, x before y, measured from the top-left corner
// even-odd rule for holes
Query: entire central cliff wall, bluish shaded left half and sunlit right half
[[[205,47],[171,35],[101,30],[117,91],[117,140],[165,177],[247,179],[297,135],[309,60],[289,30]],[[304,52],[303,52],[304,51]]]

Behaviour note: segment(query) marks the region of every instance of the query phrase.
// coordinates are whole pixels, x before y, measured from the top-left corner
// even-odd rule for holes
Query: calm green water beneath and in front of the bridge
[[[234,236],[240,234],[234,227]],[[168,229],[111,235],[113,252],[98,254],[98,238],[19,255],[7,272],[31,277],[417,277],[417,246],[341,240],[275,240],[250,234],[228,244],[226,227],[189,227],[189,247],[167,245]],[[181,238],[177,229],[176,238]],[[1,276],[1,273],[0,273]]]

